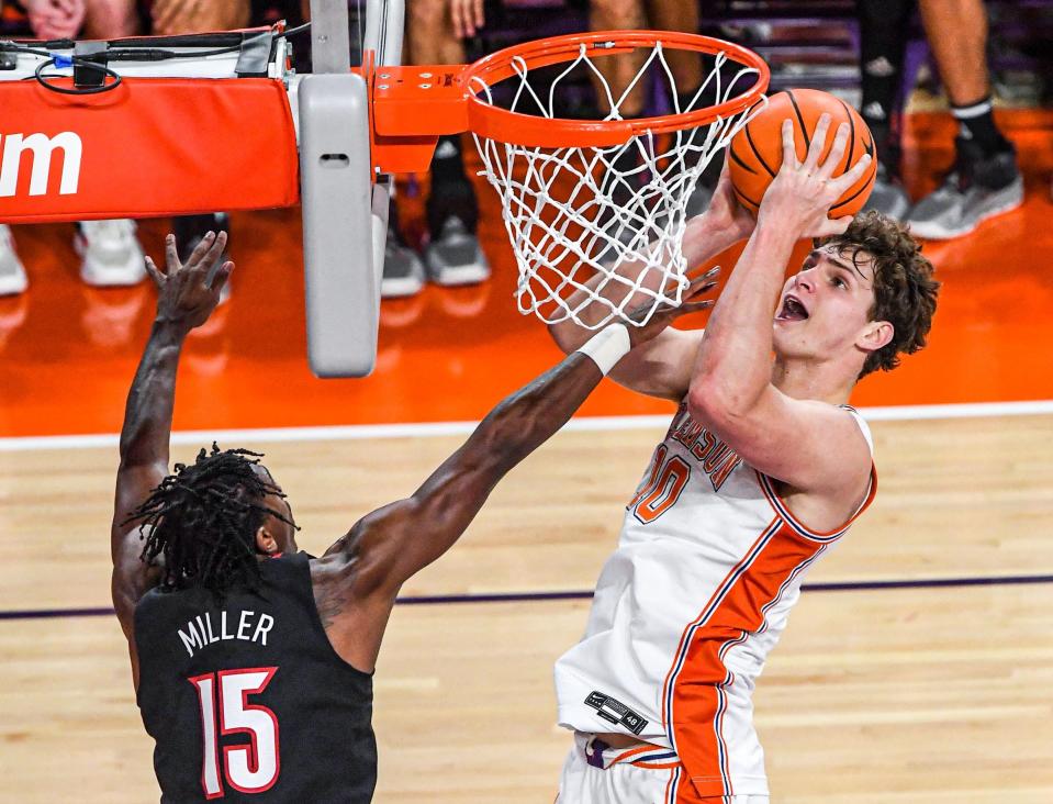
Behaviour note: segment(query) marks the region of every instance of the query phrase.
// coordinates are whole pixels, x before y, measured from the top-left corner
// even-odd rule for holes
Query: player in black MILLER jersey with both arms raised
[[[161,801],[368,802],[371,674],[400,587],[449,549],[623,354],[710,302],[601,331],[502,401],[412,496],[313,558],[298,550],[292,510],[260,456],[213,445],[169,474],[179,353],[234,267],[210,281],[225,244],[210,233],[181,265],[169,235],[167,269],[147,258],[157,317],[121,433],[112,592]]]

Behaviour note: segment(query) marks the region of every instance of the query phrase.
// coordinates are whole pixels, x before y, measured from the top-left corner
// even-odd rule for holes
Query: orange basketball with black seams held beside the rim
[[[844,158],[833,171],[840,176],[863,156],[874,157],[870,169],[852,187],[844,191],[830,209],[830,217],[854,215],[866,203],[877,176],[877,158],[874,137],[859,113],[840,98],[817,89],[787,89],[776,92],[768,99],[768,108],[749,122],[729,146],[728,169],[735,194],[746,209],[757,214],[764,191],[775,178],[783,163],[783,121],[794,121],[794,141],[797,144],[797,158],[804,161],[811,143],[811,135],[819,115],[830,115],[830,129],[827,132],[822,159],[833,146],[833,137],[841,123],[849,124],[849,143]],[[821,160],[820,160],[821,164]]]

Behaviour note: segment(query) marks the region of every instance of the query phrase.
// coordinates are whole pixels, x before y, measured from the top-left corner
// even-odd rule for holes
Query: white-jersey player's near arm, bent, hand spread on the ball
[[[757,228],[706,327],[691,381],[692,416],[712,426],[751,466],[806,492],[859,491],[870,454],[852,418],[824,402],[795,400],[772,384],[772,320],[797,239],[843,232],[851,217],[829,210],[870,164],[831,178],[848,142],[842,124],[826,160],[829,115],[802,164],[793,126],[783,126],[783,164],[761,202]]]

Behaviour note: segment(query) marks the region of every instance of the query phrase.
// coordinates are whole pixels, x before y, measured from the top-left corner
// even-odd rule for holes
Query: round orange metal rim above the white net
[[[513,66],[516,59],[522,59],[528,68],[547,67],[578,58],[583,45],[587,56],[614,56],[658,43],[710,56],[724,53],[741,67],[755,69],[757,81],[741,94],[706,109],[613,121],[565,120],[512,112],[494,107],[473,89],[475,79],[493,86],[517,75]],[[727,119],[752,107],[762,98],[770,79],[768,65],[752,51],[712,36],[675,31],[596,31],[536,40],[485,56],[468,65],[460,77],[461,86],[469,92],[468,123],[471,131],[503,143],[549,148],[618,145],[647,132],[662,134],[706,125],[717,118]]]

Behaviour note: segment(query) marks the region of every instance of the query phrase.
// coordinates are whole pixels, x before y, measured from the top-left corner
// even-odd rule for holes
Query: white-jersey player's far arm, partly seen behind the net
[[[725,166],[709,209],[687,222],[682,245],[688,267],[705,264],[729,246],[746,239],[752,230],[753,219],[735,200],[731,180]],[[639,263],[625,261],[616,270],[629,282],[639,281],[642,287],[651,291],[660,289],[659,283],[662,278],[656,271],[649,271],[641,281],[642,266]],[[710,275],[710,278],[715,276]],[[596,275],[589,280],[586,287],[595,290],[602,279],[601,275]],[[607,282],[601,295],[614,304],[620,304],[628,292],[627,284]],[[585,298],[586,291],[579,290],[569,299],[569,303],[580,304]],[[631,306],[642,303],[647,298],[638,294],[638,298],[630,300],[628,304]],[[608,313],[609,308],[606,304],[593,302],[579,315],[585,323],[595,324]],[[549,333],[557,345],[564,353],[570,354],[589,339],[592,331],[573,320],[567,320],[551,324]],[[701,330],[665,330],[651,340],[635,347],[610,372],[610,379],[638,393],[679,402],[687,393],[695,353],[701,340]]]

